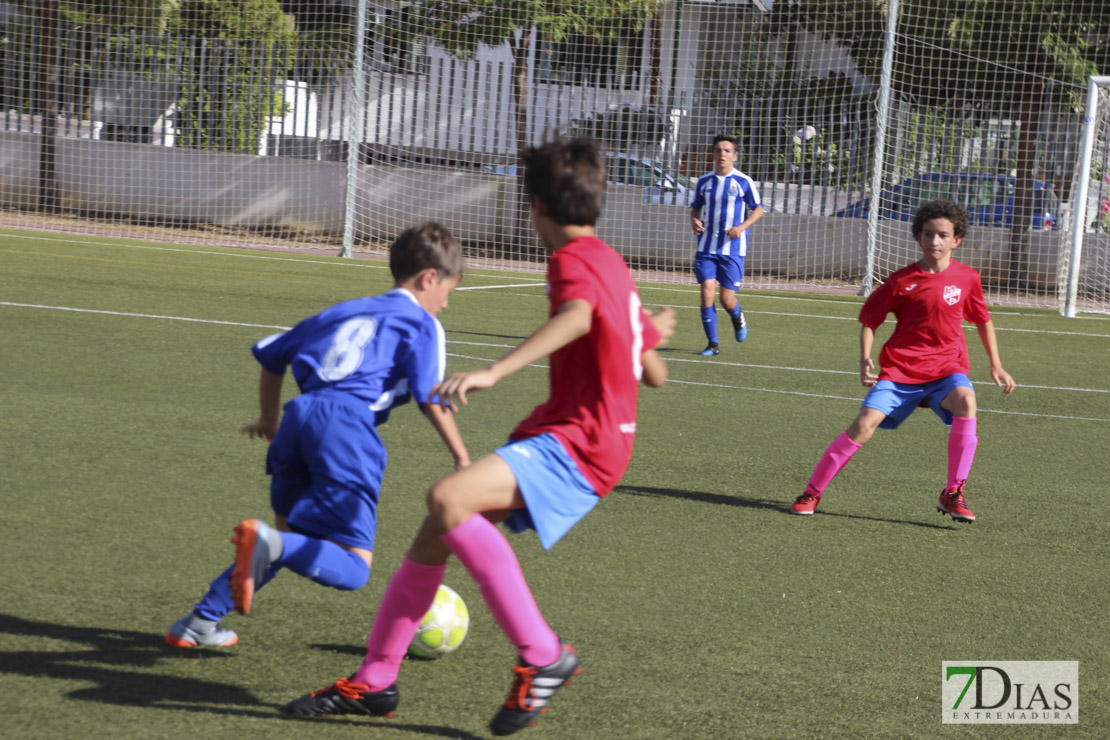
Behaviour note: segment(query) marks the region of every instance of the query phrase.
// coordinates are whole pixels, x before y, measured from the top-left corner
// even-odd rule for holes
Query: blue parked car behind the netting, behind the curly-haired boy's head
[[[917,206],[925,201],[947,199],[963,204],[978,226],[1009,229],[1013,224],[1015,178],[981,172],[930,172],[902,180],[879,193],[879,217],[912,221]],[[871,199],[837,211],[841,219],[866,219]],[[1060,204],[1056,193],[1041,181],[1033,182],[1032,227],[1059,229]]]

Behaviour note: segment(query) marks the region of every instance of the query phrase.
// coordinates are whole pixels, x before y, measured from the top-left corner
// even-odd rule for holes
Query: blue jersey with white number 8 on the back
[[[440,321],[404,288],[339,303],[251,352],[275,375],[292,369],[301,393],[332,389],[366,403],[375,424],[414,396],[427,403],[447,357]]]

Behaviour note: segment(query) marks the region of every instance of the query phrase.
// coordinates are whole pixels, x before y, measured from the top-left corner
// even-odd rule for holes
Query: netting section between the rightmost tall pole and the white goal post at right
[[[1046,49],[1059,28],[1035,10],[901,3],[869,192],[874,280],[917,259],[909,222],[922,201],[946,199],[968,210],[955,256],[982,274],[989,298],[1058,305],[1081,88]]]

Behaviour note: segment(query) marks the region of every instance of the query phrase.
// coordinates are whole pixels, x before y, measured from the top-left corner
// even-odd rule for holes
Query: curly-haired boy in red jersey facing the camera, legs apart
[[[859,378],[870,391],[856,420],[833,440],[809,478],[806,491],[790,506],[791,514],[809,515],[825,487],[848,464],[875,429],[894,429],[918,406],[931,408],[948,434],[948,483],[937,510],[956,521],[975,521],[963,498],[979,438],[976,435],[976,397],[968,379],[970,362],[962,320],[979,330],[990,359],[990,377],[1009,395],[1013,378],[1002,369],[995,324],[982,295],[979,273],[952,260],[968,230],[968,212],[951,201],[930,201],[918,207],[914,239],[921,259],[890,275],[859,312]],[[894,334],[879,354],[878,376],[871,371],[875,330],[894,313]]]

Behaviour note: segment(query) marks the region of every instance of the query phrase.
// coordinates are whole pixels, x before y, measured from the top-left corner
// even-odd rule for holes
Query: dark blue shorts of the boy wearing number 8
[[[373,550],[385,463],[365,403],[345,393],[297,396],[266,454],[270,505],[301,531]]]

